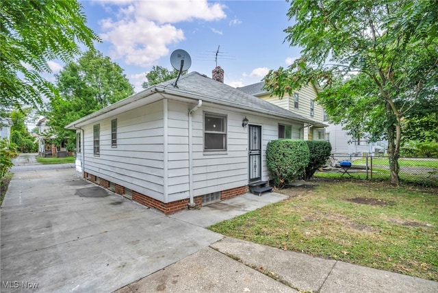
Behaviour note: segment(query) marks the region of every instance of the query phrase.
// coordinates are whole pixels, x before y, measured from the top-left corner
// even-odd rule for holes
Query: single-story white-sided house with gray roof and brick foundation
[[[279,125],[303,137],[308,118],[192,72],[76,120],[77,172],[172,214],[269,181],[266,145]]]

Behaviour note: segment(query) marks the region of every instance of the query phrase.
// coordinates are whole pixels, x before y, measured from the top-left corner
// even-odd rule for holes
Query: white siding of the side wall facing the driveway
[[[117,118],[117,147],[111,120]],[[100,124],[100,155],[93,154],[93,125]],[[83,170],[160,201],[163,196],[163,101],[84,127]]]

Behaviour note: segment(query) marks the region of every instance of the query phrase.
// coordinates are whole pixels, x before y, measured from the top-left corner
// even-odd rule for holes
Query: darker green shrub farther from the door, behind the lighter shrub
[[[325,140],[307,140],[306,142],[309,147],[309,164],[306,166],[304,179],[308,180],[329,160],[331,144]]]

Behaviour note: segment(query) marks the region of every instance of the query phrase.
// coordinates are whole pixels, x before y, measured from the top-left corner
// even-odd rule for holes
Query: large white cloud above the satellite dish
[[[182,29],[172,23],[226,18],[225,5],[206,0],[187,1],[101,1],[118,5],[117,19],[100,21],[101,38],[110,42],[110,57],[126,64],[152,66],[169,53],[169,45],[185,39]],[[211,29],[216,34],[222,31]]]

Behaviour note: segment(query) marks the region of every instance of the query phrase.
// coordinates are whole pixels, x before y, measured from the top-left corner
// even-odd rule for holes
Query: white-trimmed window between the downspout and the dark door
[[[204,112],[204,151],[227,151],[227,116]]]

